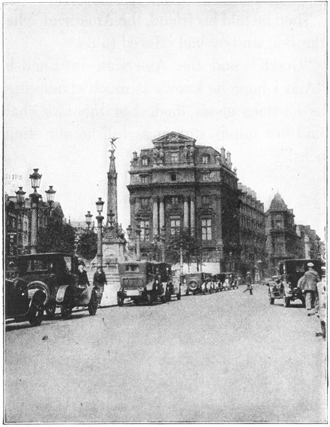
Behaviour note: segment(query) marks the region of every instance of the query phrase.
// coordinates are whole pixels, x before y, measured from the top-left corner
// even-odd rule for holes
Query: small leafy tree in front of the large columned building
[[[180,262],[180,247],[182,246],[183,263],[191,264],[192,258],[201,256],[201,243],[195,236],[191,236],[190,228],[180,230],[174,236],[171,236],[166,243],[165,255],[166,261],[171,264]]]

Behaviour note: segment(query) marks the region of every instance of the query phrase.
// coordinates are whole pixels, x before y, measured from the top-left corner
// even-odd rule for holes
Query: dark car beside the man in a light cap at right
[[[282,275],[282,283],[284,286],[284,307],[289,307],[290,303],[295,300],[302,301],[302,307],[305,307],[305,297],[298,285],[298,281],[308,270],[307,264],[313,263],[314,269],[321,277],[321,260],[309,259],[292,259],[281,260],[279,264],[279,272]]]

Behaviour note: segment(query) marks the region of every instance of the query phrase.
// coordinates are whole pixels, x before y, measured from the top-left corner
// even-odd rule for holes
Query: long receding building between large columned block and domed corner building
[[[250,271],[260,280],[266,268],[266,232],[264,204],[255,191],[238,183],[240,189],[240,273]]]

